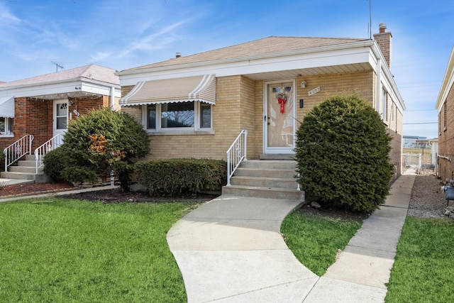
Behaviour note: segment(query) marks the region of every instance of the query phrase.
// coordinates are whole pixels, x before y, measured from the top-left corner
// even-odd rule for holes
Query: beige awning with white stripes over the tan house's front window
[[[201,101],[216,104],[216,76],[203,75],[138,82],[121,106]]]

